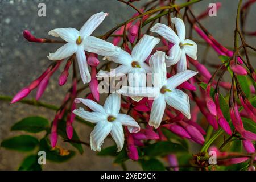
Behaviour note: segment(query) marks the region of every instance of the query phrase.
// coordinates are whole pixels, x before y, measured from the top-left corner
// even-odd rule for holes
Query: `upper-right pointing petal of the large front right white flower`
[[[167,79],[167,88],[172,90],[182,84],[183,82],[189,80],[193,76],[195,76],[198,72],[192,71],[192,70],[185,70],[183,72],[179,72],[176,75],[170,77]]]

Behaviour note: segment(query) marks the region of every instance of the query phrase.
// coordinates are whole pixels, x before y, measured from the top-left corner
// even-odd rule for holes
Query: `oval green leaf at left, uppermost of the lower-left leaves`
[[[49,122],[46,118],[35,116],[27,117],[19,122],[15,123],[11,127],[11,131],[28,131],[31,133],[38,133],[40,131],[46,130],[49,127]]]

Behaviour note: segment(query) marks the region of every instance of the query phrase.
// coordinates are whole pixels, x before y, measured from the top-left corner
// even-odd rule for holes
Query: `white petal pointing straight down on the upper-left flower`
[[[79,71],[82,78],[82,82],[84,84],[89,83],[90,72],[88,70],[88,64],[86,61],[84,48],[82,46],[77,46],[76,59],[77,59],[77,63],[79,64]]]

